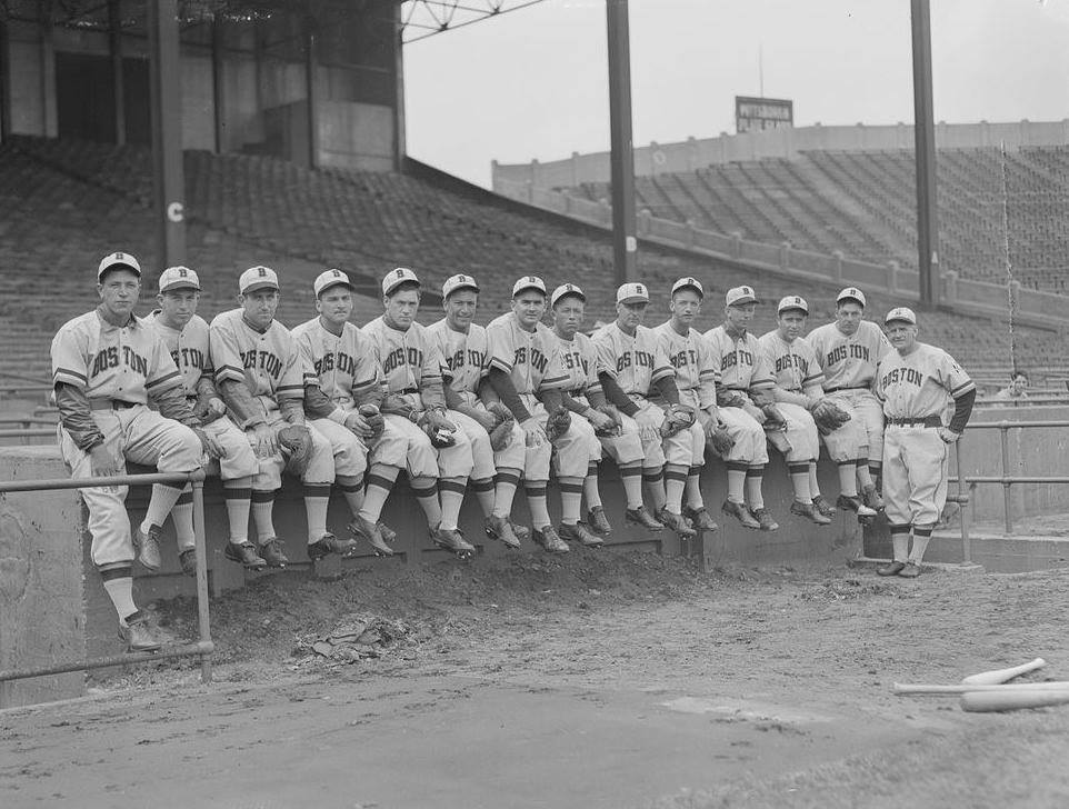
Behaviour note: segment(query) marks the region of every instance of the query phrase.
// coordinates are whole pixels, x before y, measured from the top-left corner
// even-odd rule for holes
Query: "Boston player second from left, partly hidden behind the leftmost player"
[[[250,570],[267,565],[249,541],[249,509],[252,502],[252,477],[259,465],[244,433],[229,418],[227,406],[212,380],[214,369],[208,340],[208,323],[197,314],[200,279],[188,267],[168,267],[160,276],[156,300],[160,308],[146,322],[163,341],[182,376],[186,401],[203,422],[203,430],[222,449],[219,477],[230,523],[230,540],[223,551],[227,559]],[[171,510],[179,561],[187,576],[197,573],[197,549],[193,547],[193,499],[189,487]],[[142,549],[142,555],[144,549]],[[158,557],[158,550],[157,550]],[[157,561],[157,566],[159,562]]]

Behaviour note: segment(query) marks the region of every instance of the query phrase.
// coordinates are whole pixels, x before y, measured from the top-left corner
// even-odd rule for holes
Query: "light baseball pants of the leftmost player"
[[[201,466],[203,447],[197,435],[184,425],[166,419],[143,404],[121,410],[93,410],[92,419],[104,438],[104,447],[114,458],[156,467],[160,472],[191,472]],[[74,479],[92,477],[92,461],[62,427],[59,428],[60,451]],[[248,443],[248,441],[246,441]],[[122,463],[121,475],[126,475]],[[124,501],[129,488],[79,489],[89,509],[90,556],[97,567],[133,563],[130,518]]]

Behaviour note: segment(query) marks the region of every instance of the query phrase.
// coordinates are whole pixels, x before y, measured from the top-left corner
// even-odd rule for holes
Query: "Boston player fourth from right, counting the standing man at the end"
[[[720,370],[717,389],[720,419],[735,439],[735,446],[723,457],[728,467],[728,499],[721,510],[746,528],[775,531],[779,526],[765,508],[761,491],[768,463],[763,425],[769,418],[762,407],[771,401],[773,377],[761,344],[747,330],[756,310],[757,294],[752,287],[729,289],[725,297],[723,324],[710,329],[705,337],[713,368]]]

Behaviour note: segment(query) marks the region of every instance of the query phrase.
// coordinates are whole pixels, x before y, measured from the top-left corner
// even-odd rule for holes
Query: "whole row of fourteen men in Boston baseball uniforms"
[[[126,459],[191,472],[217,459],[226,556],[249,569],[288,562],[272,519],[283,471],[303,483],[312,560],[352,555],[359,541],[392,553],[381,512],[402,470],[436,545],[473,552],[458,527],[470,490],[489,537],[567,552],[568,542],[596,547],[611,531],[598,480],[606,455],[619,469],[625,521],[650,531],[716,530],[699,486],[707,456],[726,468],[721,511],[777,530],[762,497],[769,445],[787,461],[791,513],[827,525],[836,508],[817,485],[822,438],[839,472],[836,506],[862,521],[886,509],[895,560],[878,572],[912,577],[946,501],[947,447],[975,398],[949,354],[917,341],[911,310],[891,310],[885,334],[863,318],[856,288],[839,293],[835,322],[808,336],[808,303],[783,298],[777,328],[758,338],[748,329],[758,306],[750,287],[729,290],[722,323],[702,334],[697,279],[672,286],[670,318],[653,328],[645,326],[649,290],[625,283],[616,320],[587,337],[582,289],[566,283],[549,293],[534,276],[516,281],[511,311],[486,327],[473,322],[477,280],[452,276],[442,287],[444,317],[423,327],[421,283],[396,269],[382,279],[383,313],[357,328],[349,278],[327,270],[313,283],[317,317],[292,330],[276,319],[281,291],[267,267],[241,274],[239,307],[210,326],[196,313],[200,281],[189,268],[163,271],[159,309],[144,319],[133,312],[137,259],[112,253],[97,279],[100,306],[52,342],[72,475],[121,475]],[[558,526],[547,507],[551,470]],[[520,486],[530,529],[511,517]],[[351,512],[349,537],[327,528],[332,488]],[[189,486],[153,486],[132,531],[123,487],[81,491],[120,638],[130,650],[157,649],[133,600],[133,561],[160,567],[170,515],[182,568],[196,571]]]

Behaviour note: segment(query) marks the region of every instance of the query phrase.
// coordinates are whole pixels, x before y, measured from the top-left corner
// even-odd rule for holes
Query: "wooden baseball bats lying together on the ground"
[[[1012,711],[1020,708],[1046,708],[1069,702],[1069,680],[1051,682],[1010,682],[1015,677],[1036,671],[1047,665],[1042,658],[1009,669],[970,675],[953,686],[896,682],[899,695],[961,695],[961,710]]]

